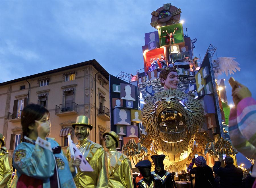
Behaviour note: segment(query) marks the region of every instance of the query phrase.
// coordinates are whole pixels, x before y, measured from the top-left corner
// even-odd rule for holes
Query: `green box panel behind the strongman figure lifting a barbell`
[[[177,24],[163,26],[163,27],[158,28],[160,46],[169,45],[169,44],[165,43],[165,36],[167,36],[167,34],[166,34],[166,32],[163,33],[163,31],[167,30],[168,33],[170,33],[170,32],[174,32],[175,28],[179,28],[178,30],[176,30],[176,32],[174,34],[174,42],[175,42],[175,44],[176,43],[184,42],[184,35],[183,35],[182,24],[181,23],[177,23]]]

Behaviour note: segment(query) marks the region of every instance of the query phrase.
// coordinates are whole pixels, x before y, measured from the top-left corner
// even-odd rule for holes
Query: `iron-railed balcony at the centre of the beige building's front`
[[[58,104],[55,106],[55,115],[57,116],[76,115],[76,114],[78,114],[78,112],[77,112],[77,104],[75,102]]]

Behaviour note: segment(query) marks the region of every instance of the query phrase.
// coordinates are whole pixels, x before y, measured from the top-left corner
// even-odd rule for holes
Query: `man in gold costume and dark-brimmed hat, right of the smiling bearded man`
[[[119,137],[114,131],[103,134],[105,146],[108,149],[109,187],[133,188],[132,167],[129,158],[118,152]]]

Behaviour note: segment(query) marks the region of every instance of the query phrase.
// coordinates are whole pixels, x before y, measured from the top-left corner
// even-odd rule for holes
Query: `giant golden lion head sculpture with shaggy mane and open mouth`
[[[199,100],[179,90],[164,90],[146,97],[141,114],[147,134],[155,142],[157,154],[165,154],[165,166],[185,169],[195,134],[204,121]]]

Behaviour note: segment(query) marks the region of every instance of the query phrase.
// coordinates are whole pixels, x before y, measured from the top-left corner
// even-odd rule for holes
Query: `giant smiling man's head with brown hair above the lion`
[[[160,72],[159,78],[165,90],[168,90],[170,88],[177,89],[179,79],[178,79],[178,74],[176,69],[174,68],[162,69],[162,71]]]

